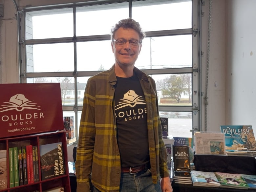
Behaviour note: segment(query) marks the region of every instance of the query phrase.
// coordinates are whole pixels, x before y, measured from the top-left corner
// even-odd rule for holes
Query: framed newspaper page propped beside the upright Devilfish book
[[[225,136],[221,132],[195,132],[195,154],[226,155]]]

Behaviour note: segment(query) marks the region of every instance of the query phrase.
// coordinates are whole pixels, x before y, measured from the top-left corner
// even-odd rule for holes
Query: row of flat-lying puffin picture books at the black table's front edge
[[[256,175],[191,171],[194,186],[256,189]]]

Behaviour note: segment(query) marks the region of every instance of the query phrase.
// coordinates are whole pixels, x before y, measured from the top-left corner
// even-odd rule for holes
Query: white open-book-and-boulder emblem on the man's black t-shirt
[[[135,107],[137,104],[146,105],[145,99],[141,97],[142,96],[138,96],[133,90],[128,91],[124,94],[123,99],[119,99],[120,102],[117,103],[116,110],[126,106]]]

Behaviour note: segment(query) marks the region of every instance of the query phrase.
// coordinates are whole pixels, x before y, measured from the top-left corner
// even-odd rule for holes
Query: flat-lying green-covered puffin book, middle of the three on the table
[[[221,187],[245,189],[249,188],[246,181],[238,173],[215,172],[215,175],[218,181],[221,183]]]

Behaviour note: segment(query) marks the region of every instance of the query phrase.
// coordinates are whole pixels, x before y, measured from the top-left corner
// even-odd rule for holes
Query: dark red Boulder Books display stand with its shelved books
[[[70,192],[60,84],[0,88],[0,192]]]

